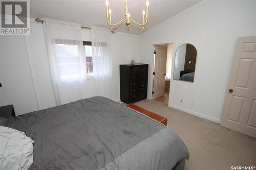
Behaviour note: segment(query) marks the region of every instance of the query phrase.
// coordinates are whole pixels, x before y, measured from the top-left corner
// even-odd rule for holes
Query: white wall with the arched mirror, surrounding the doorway
[[[148,99],[153,44],[174,43],[175,54],[178,46],[191,43],[198,52],[194,83],[172,80],[169,106],[219,123],[234,46],[237,37],[255,35],[255,11],[256,1],[204,1],[141,34],[140,54],[150,64]]]

